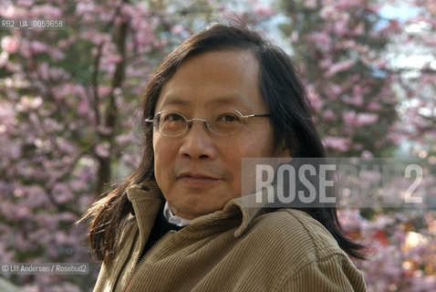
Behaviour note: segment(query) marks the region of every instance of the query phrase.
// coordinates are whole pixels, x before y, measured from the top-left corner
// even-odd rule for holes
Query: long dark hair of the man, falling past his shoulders
[[[296,68],[285,52],[265,40],[257,31],[240,24],[213,24],[176,47],[157,68],[142,93],[141,118],[154,115],[162,86],[174,75],[182,62],[208,51],[241,49],[250,51],[259,63],[259,85],[271,113],[275,151],[288,151],[293,157],[326,158],[326,149],[313,120],[313,110]],[[139,167],[84,215],[93,217],[89,231],[91,250],[99,260],[110,263],[119,252],[119,236],[127,224],[132,206],[126,189],[132,183],[154,180],[152,129],[143,124],[144,144]],[[337,244],[348,254],[364,258],[362,245],[351,241],[337,220],[335,207],[301,209],[323,224]]]

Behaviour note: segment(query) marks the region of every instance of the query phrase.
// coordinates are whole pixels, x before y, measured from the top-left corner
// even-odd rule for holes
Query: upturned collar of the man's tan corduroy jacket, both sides
[[[163,200],[161,190],[155,181],[147,181],[131,185],[127,193],[137,216],[141,232],[141,229],[154,224]],[[244,235],[255,217],[271,211],[271,209],[265,208],[265,205],[255,203],[255,197],[256,194],[252,193],[245,195],[243,198],[234,198],[226,203],[223,209],[197,217],[185,228],[194,231],[204,230],[211,225],[225,225],[227,228],[231,225],[237,226],[234,236]]]

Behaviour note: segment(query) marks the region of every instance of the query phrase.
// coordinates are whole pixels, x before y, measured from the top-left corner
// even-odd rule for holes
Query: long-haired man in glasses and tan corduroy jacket
[[[364,291],[334,208],[247,207],[244,157],[325,157],[285,53],[243,26],[187,39],[155,72],[140,166],[99,200],[95,291]]]

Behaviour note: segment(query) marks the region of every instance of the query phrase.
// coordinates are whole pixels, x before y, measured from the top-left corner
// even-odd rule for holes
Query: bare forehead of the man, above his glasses
[[[205,52],[183,61],[162,87],[156,111],[237,107],[263,110],[259,65],[247,50]]]

